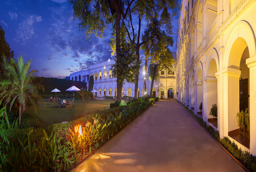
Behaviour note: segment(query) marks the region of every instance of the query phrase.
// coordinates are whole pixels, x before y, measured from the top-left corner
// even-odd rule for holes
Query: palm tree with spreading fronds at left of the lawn
[[[40,83],[33,83],[38,71],[31,70],[31,61],[32,59],[25,64],[22,56],[18,58],[18,61],[15,61],[13,58],[10,59],[10,63],[6,67],[8,79],[1,82],[1,100],[7,99],[11,102],[10,110],[15,100],[19,102],[19,124],[21,124],[21,117],[25,111],[26,102],[32,104],[35,113],[37,113],[38,108],[37,100],[39,99],[43,103],[43,98],[38,94],[38,89],[44,90],[44,88]]]

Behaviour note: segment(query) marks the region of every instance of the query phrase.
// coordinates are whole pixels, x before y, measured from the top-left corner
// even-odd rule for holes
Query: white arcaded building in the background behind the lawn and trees
[[[173,58],[175,58],[175,53]],[[149,64],[150,62],[148,62]],[[89,77],[93,75],[96,96],[116,96],[117,95],[117,82],[116,78],[112,78],[111,65],[114,64],[114,59],[109,59],[108,61],[103,61],[97,64],[89,66],[88,70],[80,70],[70,74],[70,80],[84,81],[89,85]],[[153,95],[163,96],[163,98],[176,96],[176,67],[175,64],[171,71],[163,70],[160,71],[160,79],[156,80],[153,88]],[[144,92],[144,78],[145,78],[145,59],[142,60],[142,68],[139,75],[139,86],[138,86],[138,96],[142,97]],[[146,92],[149,94],[151,89],[151,81],[146,80]],[[122,96],[134,96],[135,84],[125,82],[122,88]]]

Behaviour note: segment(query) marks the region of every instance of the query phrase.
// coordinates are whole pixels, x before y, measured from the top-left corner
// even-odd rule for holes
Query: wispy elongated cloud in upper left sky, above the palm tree
[[[17,40],[23,40],[23,42],[25,42],[25,40],[28,40],[29,38],[31,38],[32,35],[34,35],[34,30],[35,30],[33,28],[34,22],[41,22],[41,21],[42,21],[41,16],[31,15],[25,21],[20,23],[18,30],[15,30],[17,34]]]

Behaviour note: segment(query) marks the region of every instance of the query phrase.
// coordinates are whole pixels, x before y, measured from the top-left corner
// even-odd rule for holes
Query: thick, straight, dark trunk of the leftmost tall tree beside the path
[[[117,64],[120,65],[120,20],[121,20],[121,12],[117,8],[116,9],[116,59]],[[117,75],[117,101],[122,100],[122,87],[123,83],[120,81],[119,76],[122,75],[122,71],[120,71],[119,75]]]

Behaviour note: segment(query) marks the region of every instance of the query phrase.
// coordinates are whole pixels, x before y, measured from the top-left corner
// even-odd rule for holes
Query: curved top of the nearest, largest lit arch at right
[[[239,40],[238,40],[238,39]],[[239,45],[239,48],[237,47],[233,47],[234,43],[236,43]],[[225,45],[225,49],[224,49],[224,55],[223,55],[223,69],[227,68],[231,65],[234,65],[236,67],[238,67],[239,69],[239,65],[240,65],[240,59],[236,59],[236,58],[229,58],[229,57],[234,57],[234,55],[230,54],[231,50],[233,49],[241,49],[241,48],[246,48],[246,46],[248,46],[249,49],[249,54],[250,57],[253,57],[256,55],[256,40],[255,40],[255,35],[253,32],[252,27],[250,26],[250,24],[244,20],[237,22],[236,25],[234,25],[234,27],[232,28],[229,36],[228,36],[228,40],[227,43]],[[233,48],[233,49],[232,49]],[[239,52],[239,54],[237,54],[238,52],[233,51],[235,56],[239,56],[241,57],[241,52]]]

